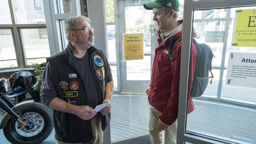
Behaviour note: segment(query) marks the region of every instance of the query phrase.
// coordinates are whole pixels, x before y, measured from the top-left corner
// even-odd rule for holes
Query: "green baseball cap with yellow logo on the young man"
[[[180,2],[179,0],[155,0],[152,3],[143,4],[146,10],[153,10],[153,8],[169,7],[175,11],[179,11]]]

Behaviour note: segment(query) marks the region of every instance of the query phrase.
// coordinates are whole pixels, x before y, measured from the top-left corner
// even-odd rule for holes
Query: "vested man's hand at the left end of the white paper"
[[[76,115],[84,120],[89,120],[97,113],[93,110],[93,108],[89,106],[79,106],[76,108]]]

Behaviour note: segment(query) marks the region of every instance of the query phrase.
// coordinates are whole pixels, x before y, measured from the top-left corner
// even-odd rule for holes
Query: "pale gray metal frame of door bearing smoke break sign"
[[[136,2],[138,1],[138,2]],[[143,6],[143,4],[151,2],[148,0],[144,0],[141,2],[141,0],[117,0],[117,12],[115,15],[118,16],[118,19],[116,19],[116,46],[119,51],[116,51],[118,54],[118,61],[120,71],[120,89],[121,92],[146,92],[146,89],[150,85],[151,80],[127,80],[127,65],[126,61],[124,60],[124,52],[123,52],[123,43],[120,43],[120,41],[123,41],[123,33],[125,33],[125,6]],[[141,3],[141,5],[138,5],[138,3]],[[154,23],[154,27],[156,27],[156,24]],[[151,33],[154,32],[154,29],[151,28]],[[117,43],[119,42],[119,43]],[[151,35],[151,53],[144,56],[151,56],[150,58],[150,77],[152,73],[152,65],[154,60],[154,50],[156,49],[156,36]]]

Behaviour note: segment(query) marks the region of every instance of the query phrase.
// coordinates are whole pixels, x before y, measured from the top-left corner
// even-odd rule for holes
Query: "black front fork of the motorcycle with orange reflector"
[[[7,103],[7,104],[6,104]],[[5,95],[2,95],[0,98],[0,104],[2,109],[4,109],[8,114],[10,114],[14,119],[16,119],[20,124],[22,124],[26,129],[30,130],[33,128],[32,124],[28,124],[24,121],[19,115],[17,115],[11,108],[15,106],[12,101]]]

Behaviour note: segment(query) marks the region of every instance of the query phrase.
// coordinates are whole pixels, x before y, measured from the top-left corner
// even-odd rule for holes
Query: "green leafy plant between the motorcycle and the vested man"
[[[35,69],[35,73],[37,74],[36,77],[36,82],[35,84],[32,86],[32,88],[35,91],[39,91],[42,85],[42,77],[44,74],[44,67],[46,65],[46,62],[43,62],[41,64],[38,63],[32,63],[32,65],[30,66],[30,68],[34,68]]]

